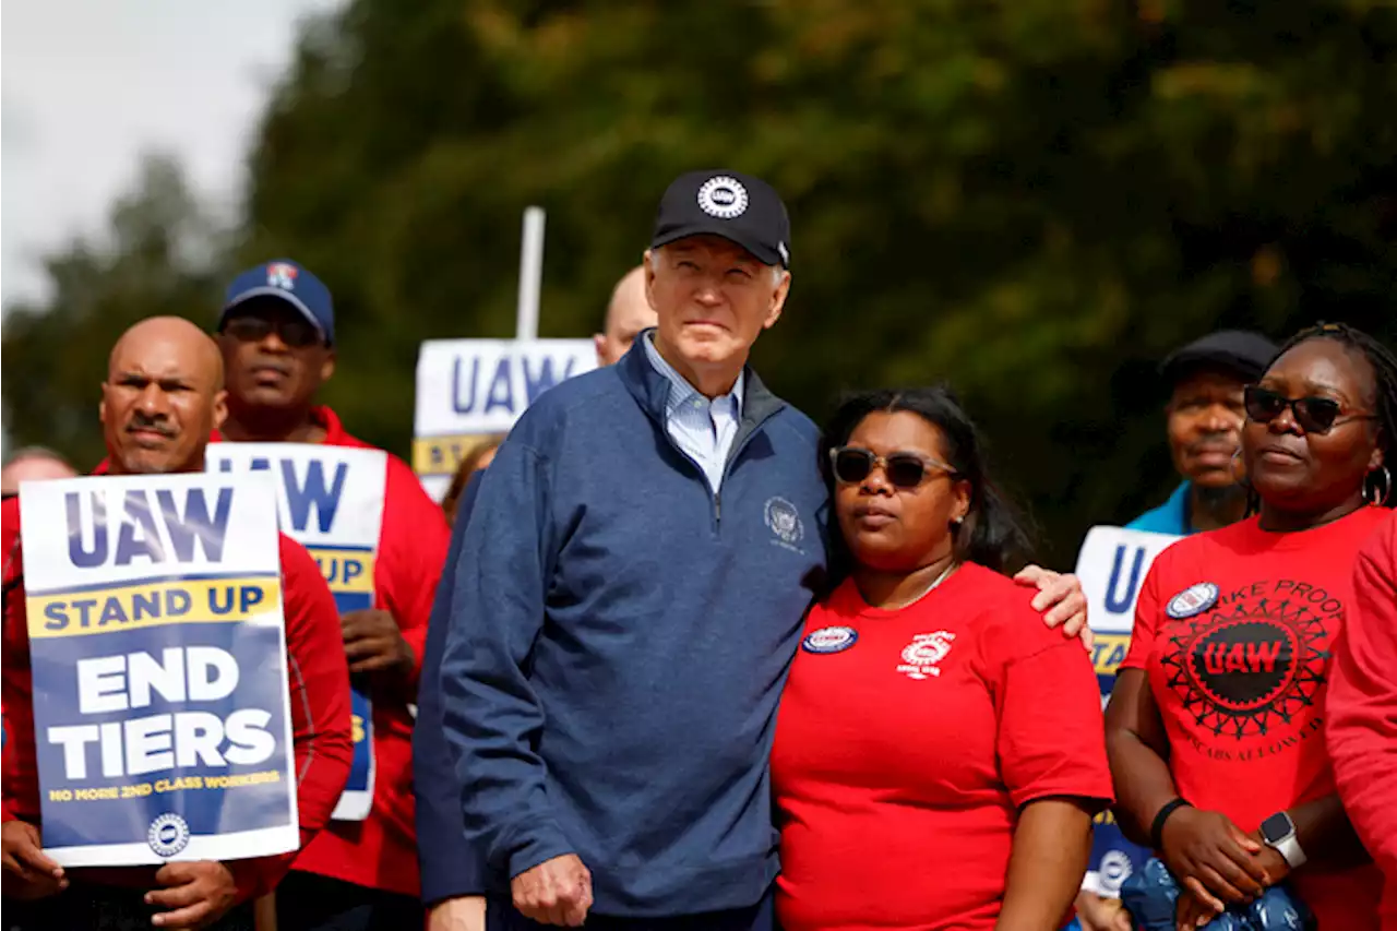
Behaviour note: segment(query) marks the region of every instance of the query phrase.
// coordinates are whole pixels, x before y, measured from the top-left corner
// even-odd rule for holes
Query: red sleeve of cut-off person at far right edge
[[[1358,554],[1354,602],[1334,644],[1329,753],[1359,839],[1397,875],[1397,519]]]

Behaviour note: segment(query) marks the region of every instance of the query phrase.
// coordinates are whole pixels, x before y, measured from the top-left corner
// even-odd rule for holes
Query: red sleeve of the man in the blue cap
[[[416,474],[397,456],[388,457],[386,485],[374,584],[380,607],[398,622],[402,639],[412,647],[415,661],[407,685],[408,695],[415,696],[432,601],[451,545],[451,530],[441,507],[427,496]]]

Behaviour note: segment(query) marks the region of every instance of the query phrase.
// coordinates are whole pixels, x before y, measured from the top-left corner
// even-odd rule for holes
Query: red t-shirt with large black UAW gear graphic
[[[1333,794],[1324,698],[1334,637],[1354,600],[1358,549],[1389,512],[1273,534],[1257,519],[1173,544],[1136,604],[1122,670],[1146,670],[1179,794],[1253,832]],[[1373,865],[1294,876],[1324,930],[1377,928]]]

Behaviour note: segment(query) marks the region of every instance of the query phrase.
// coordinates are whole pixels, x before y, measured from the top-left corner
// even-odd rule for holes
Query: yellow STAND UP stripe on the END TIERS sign
[[[75,637],[161,628],[169,623],[246,621],[281,598],[275,576],[186,579],[29,596],[29,637]]]

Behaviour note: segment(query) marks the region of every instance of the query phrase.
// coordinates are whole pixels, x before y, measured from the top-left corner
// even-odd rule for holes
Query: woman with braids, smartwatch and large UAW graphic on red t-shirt
[[[1285,878],[1322,930],[1377,927],[1323,709],[1358,549],[1389,513],[1365,503],[1391,493],[1382,352],[1340,326],[1291,340],[1246,389],[1259,514],[1171,545],[1141,586],[1106,742],[1122,825],[1186,889],[1180,927]]]

